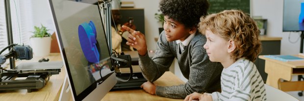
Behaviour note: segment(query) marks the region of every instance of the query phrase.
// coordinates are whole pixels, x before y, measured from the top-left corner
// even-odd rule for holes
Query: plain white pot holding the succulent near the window
[[[50,55],[51,37],[30,38],[34,56],[44,57]]]

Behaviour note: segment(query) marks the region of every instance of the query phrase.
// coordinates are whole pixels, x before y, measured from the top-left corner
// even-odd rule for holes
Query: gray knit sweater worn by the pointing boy
[[[157,41],[157,50],[152,59],[139,56],[139,66],[148,81],[156,81],[169,69],[174,58],[183,76],[188,79],[185,84],[178,86],[156,86],[156,95],[167,98],[184,99],[187,95],[198,93],[212,93],[221,88],[220,77],[223,66],[219,62],[209,61],[203,45],[205,36],[197,33],[185,50],[179,54],[176,41],[167,41],[164,31]]]

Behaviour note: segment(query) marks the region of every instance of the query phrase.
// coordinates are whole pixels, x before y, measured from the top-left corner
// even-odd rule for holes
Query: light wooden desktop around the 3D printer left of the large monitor
[[[21,62],[38,61],[41,58],[49,58],[50,61],[62,61],[60,53],[51,53],[48,57],[34,57],[29,61],[17,61],[16,65]],[[61,72],[58,75],[52,75],[42,89],[32,90],[31,93],[27,93],[26,89],[0,91],[0,101],[58,101],[65,74],[65,69],[62,67]]]

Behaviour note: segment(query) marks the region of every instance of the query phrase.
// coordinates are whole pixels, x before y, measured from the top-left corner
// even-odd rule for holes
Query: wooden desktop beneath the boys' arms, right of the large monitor
[[[180,85],[184,83],[172,72],[165,72],[158,80],[154,81],[160,86]],[[110,91],[101,101],[183,101],[183,99],[170,99],[151,95],[143,89]]]

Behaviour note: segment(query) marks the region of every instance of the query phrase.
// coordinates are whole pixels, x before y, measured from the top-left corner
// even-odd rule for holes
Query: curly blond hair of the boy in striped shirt
[[[234,41],[236,48],[230,55],[234,61],[242,57],[255,61],[261,51],[260,31],[256,23],[249,14],[240,10],[225,10],[201,17],[199,31],[204,34],[206,30]]]

